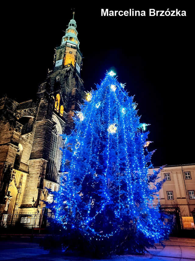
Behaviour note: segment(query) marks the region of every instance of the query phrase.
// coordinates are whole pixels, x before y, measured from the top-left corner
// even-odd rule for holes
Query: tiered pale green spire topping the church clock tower
[[[62,37],[61,45],[69,43],[70,45],[79,47],[80,42],[77,38],[78,32],[76,31],[76,21],[74,20],[74,14],[75,12],[73,12],[73,19],[69,21],[66,34]]]

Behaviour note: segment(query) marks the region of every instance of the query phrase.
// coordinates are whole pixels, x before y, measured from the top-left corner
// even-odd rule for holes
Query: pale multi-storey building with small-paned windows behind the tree
[[[149,170],[151,174],[153,169]],[[191,228],[195,222],[195,164],[165,166],[158,177],[158,182],[166,180],[159,191],[161,207],[178,212],[183,228]],[[154,196],[154,204],[158,204],[157,196]]]

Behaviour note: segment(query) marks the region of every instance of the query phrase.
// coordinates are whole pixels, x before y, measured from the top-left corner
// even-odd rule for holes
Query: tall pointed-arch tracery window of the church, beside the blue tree
[[[54,125],[51,131],[51,144],[46,169],[46,176],[47,179],[57,182],[62,155],[62,151],[60,150],[60,147],[62,146],[62,136],[60,136],[60,134],[62,134],[62,127],[58,118],[55,115],[53,115],[52,121]]]

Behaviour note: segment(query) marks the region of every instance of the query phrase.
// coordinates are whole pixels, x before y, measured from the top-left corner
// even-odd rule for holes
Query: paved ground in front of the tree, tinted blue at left
[[[115,256],[113,261],[191,261],[195,260],[195,239],[179,239],[170,238],[166,242],[166,247],[159,245],[157,249],[149,249],[150,254],[137,256],[125,255]],[[82,260],[93,261],[95,259],[84,259],[78,257],[66,257],[60,255],[51,255],[48,251],[39,248],[38,243],[30,242],[30,238],[3,238],[0,241],[0,260],[17,260],[17,261],[31,261],[31,260],[48,260],[48,261],[62,261],[62,260]],[[110,261],[111,259],[109,259]],[[98,261],[97,259],[95,261]],[[104,261],[107,261],[104,259]]]

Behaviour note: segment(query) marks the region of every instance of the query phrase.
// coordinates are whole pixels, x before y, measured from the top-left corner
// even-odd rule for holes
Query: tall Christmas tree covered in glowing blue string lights
[[[102,254],[143,252],[169,233],[153,206],[161,169],[147,177],[153,154],[147,124],[140,123],[137,104],[113,71],[86,94],[75,112],[75,130],[63,135],[61,187],[48,207],[67,233],[65,248],[74,235],[77,244],[91,241]]]

